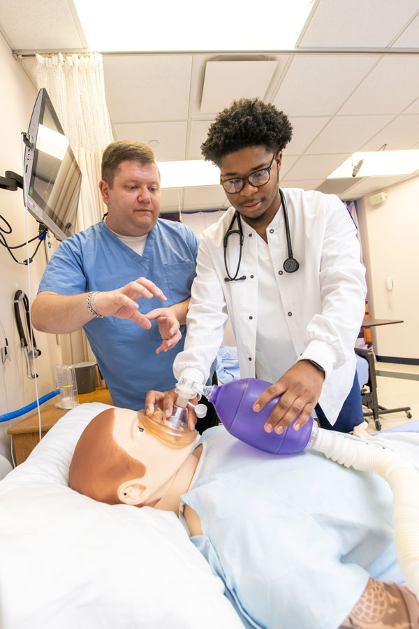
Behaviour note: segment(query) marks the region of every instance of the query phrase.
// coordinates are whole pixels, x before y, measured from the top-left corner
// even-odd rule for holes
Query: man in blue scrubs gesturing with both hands
[[[84,328],[115,405],[140,409],[156,383],[175,384],[199,243],[185,225],[159,219],[160,174],[147,145],[110,144],[99,188],[108,214],[59,245],[31,317],[43,332]]]

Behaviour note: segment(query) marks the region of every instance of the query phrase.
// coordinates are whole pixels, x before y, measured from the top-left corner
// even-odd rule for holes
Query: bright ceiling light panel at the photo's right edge
[[[352,177],[353,168],[363,160],[354,179],[359,177],[410,175],[419,169],[419,150],[354,153],[328,179]]]

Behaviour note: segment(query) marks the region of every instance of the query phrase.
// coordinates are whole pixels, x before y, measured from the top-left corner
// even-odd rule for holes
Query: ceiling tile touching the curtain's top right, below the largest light
[[[103,71],[113,124],[187,120],[191,55],[105,55]]]

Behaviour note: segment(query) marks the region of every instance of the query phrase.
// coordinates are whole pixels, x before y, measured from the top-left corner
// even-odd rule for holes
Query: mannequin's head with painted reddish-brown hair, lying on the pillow
[[[195,447],[196,431],[173,429],[163,412],[110,408],[84,428],[68,484],[103,503],[154,506]]]

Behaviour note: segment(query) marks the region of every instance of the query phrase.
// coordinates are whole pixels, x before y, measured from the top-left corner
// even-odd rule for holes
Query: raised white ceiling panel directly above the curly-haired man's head
[[[205,67],[200,112],[216,113],[235,99],[263,99],[277,68],[276,61],[214,61]]]

